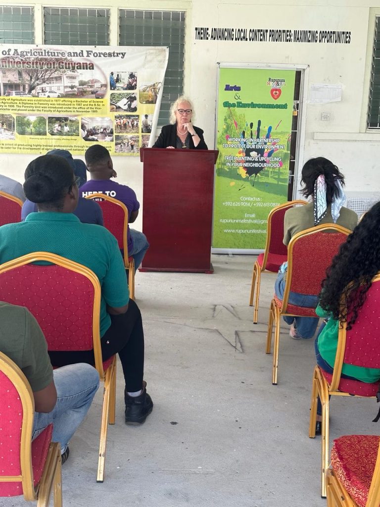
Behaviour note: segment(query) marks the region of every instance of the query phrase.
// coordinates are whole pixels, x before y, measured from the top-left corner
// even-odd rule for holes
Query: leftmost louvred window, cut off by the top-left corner
[[[34,43],[33,7],[0,6],[0,44]]]

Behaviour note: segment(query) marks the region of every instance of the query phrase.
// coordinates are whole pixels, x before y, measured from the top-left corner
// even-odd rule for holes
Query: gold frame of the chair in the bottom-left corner
[[[39,484],[33,485],[31,442],[33,429],[34,398],[29,382],[20,368],[3,352],[0,352],[0,371],[2,371],[17,389],[23,410],[19,476],[0,476],[0,482],[21,482],[24,499],[37,500],[37,507],[48,507],[51,492],[54,495],[54,507],[62,507],[61,449],[57,442],[51,442],[44,470]]]

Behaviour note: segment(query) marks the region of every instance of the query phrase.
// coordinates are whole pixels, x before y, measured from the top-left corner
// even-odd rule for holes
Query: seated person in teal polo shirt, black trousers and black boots
[[[78,178],[62,157],[43,155],[27,166],[24,192],[39,213],[0,227],[0,263],[33,251],[48,251],[91,269],[101,286],[100,336],[103,360],[119,353],[125,379],[125,422],[142,423],[153,410],[143,381],[144,333],[141,313],[129,300],[118,242],[104,227],[82,224],[72,211]],[[27,291],[28,288],[25,287]],[[55,366],[94,364],[93,351],[50,352]]]

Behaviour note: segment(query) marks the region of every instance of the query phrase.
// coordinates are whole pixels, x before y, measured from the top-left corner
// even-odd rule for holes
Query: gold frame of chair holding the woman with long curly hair
[[[376,275],[372,282],[380,281],[380,274]],[[347,322],[343,322],[343,328],[339,328],[338,345],[336,348],[335,363],[331,379],[331,384],[327,382],[321,373],[319,366],[316,366],[313,374],[312,385],[312,399],[310,404],[310,424],[309,424],[309,438],[315,438],[315,423],[317,420],[317,400],[318,396],[322,405],[322,473],[321,473],[321,496],[326,497],[326,472],[329,467],[329,420],[330,420],[330,404],[329,395],[332,396],[350,396],[348,392],[338,390],[341,369],[343,368],[343,360],[345,357],[346,349],[346,333]],[[372,398],[374,396],[360,396],[358,397]],[[380,473],[380,472],[379,472]],[[380,500],[379,502],[380,503]],[[377,507],[378,507],[377,503]]]

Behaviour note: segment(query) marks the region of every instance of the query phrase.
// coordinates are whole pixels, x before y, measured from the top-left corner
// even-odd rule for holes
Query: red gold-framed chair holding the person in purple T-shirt
[[[129,297],[135,299],[135,260],[128,256],[128,209],[127,206],[106,194],[95,193],[86,196],[98,202],[103,212],[104,227],[118,240],[120,250],[123,252],[125,269],[128,270]],[[138,266],[137,266],[138,267]]]

